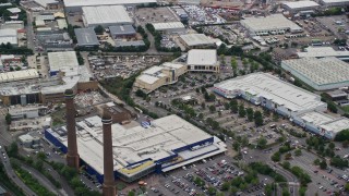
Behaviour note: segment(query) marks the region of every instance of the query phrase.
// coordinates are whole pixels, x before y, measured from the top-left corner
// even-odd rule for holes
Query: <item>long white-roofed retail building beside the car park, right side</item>
[[[327,103],[313,93],[267,73],[253,73],[215,84],[214,91],[225,98],[241,97],[279,113],[305,130],[333,139],[349,128],[349,120],[325,114]]]

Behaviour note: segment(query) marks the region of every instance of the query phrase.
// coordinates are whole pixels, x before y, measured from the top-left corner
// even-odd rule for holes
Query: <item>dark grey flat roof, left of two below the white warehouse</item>
[[[98,46],[99,41],[94,28],[74,28],[79,46]]]

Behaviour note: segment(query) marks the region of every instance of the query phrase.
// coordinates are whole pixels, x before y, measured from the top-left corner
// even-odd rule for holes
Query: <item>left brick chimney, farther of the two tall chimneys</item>
[[[76,124],[75,124],[75,106],[74,106],[74,93],[72,89],[67,89],[64,93],[65,109],[67,109],[67,130],[68,130],[68,154],[67,164],[71,168],[79,170],[79,154],[76,144]]]

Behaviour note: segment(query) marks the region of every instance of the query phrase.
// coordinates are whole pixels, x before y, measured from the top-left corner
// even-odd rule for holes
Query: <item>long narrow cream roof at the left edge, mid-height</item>
[[[5,73],[0,73],[0,83],[31,79],[31,78],[37,78],[37,77],[39,77],[39,74],[35,69],[5,72]]]

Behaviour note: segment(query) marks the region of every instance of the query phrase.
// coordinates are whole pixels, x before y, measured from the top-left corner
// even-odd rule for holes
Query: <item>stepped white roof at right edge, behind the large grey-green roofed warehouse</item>
[[[308,47],[304,49],[304,52],[297,52],[299,58],[308,58],[308,57],[349,57],[349,51],[336,51],[332,47]]]

